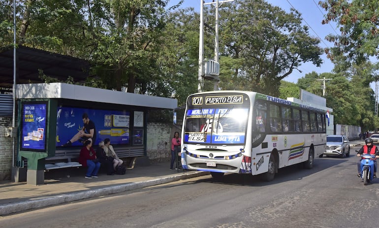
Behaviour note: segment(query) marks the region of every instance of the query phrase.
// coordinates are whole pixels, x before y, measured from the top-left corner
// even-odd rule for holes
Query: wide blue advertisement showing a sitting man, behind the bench
[[[87,137],[82,137],[80,132],[89,133],[89,129],[83,129],[86,113],[89,125],[94,128],[93,145],[96,147],[100,141],[109,138],[112,145],[129,144],[130,112],[115,110],[99,110],[77,107],[58,107],[57,111],[57,140],[56,146],[82,146]],[[70,144],[67,145],[67,142]]]

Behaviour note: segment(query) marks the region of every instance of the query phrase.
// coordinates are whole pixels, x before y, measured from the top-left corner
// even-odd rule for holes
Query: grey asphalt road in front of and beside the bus
[[[379,179],[364,186],[357,157],[315,159],[271,182],[196,177],[0,218],[4,228],[377,228]]]

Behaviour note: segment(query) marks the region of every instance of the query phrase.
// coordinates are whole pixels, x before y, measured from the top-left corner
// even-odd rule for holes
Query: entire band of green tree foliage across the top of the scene
[[[183,105],[197,92],[199,14],[193,8],[167,8],[168,0],[17,0],[17,44],[82,58],[92,63],[86,85],[171,97]],[[301,64],[319,66],[319,40],[289,13],[264,0],[235,0],[220,6],[219,55],[222,90],[250,90],[272,96],[299,97],[306,89],[322,96],[335,123],[379,127],[370,83],[378,80],[377,1],[325,0],[324,23],[336,21],[341,35],[326,50],[336,64],[333,74],[312,72],[297,84],[285,79]],[[0,45],[13,43],[13,1],[0,0]],[[215,7],[204,8],[204,57],[214,58]],[[39,72],[43,81],[54,78]],[[76,83],[67,76],[66,83]],[[204,90],[213,90],[204,81]]]

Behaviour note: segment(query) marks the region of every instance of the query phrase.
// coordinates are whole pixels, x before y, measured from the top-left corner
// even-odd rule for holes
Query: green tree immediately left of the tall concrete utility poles
[[[197,92],[199,15],[193,8],[178,9],[168,14],[162,30],[158,62],[161,81],[170,97],[184,105],[189,94]]]

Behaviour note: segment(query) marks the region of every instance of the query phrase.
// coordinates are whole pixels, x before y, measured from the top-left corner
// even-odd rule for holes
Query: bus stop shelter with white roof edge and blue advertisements
[[[62,147],[83,127],[82,114],[95,122],[94,145],[111,138],[114,148],[130,156],[146,155],[146,116],[149,110],[177,107],[177,100],[65,83],[17,85],[17,165],[27,158],[27,183],[44,182],[45,158],[66,150],[80,150],[74,142]]]

